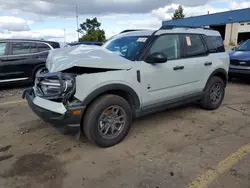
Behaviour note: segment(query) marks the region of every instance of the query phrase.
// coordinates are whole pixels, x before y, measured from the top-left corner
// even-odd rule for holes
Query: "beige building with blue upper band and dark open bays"
[[[250,8],[163,21],[162,25],[210,27],[221,33],[225,46],[250,39]]]

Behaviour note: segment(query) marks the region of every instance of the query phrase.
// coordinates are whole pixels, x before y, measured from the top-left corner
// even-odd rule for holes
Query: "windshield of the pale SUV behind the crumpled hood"
[[[109,51],[118,53],[120,56],[130,61],[135,61],[137,55],[144,47],[147,39],[148,36],[143,36],[143,37],[128,36],[128,37],[114,38],[105,43],[103,47]]]

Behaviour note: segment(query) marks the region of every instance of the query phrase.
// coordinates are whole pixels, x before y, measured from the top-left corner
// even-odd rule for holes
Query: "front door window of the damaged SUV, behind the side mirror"
[[[168,60],[180,58],[180,40],[178,35],[162,35],[153,43],[149,54],[162,52]]]

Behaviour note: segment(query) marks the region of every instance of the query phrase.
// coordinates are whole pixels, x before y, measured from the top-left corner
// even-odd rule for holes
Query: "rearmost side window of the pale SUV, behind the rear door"
[[[221,36],[204,36],[204,39],[210,53],[225,52]]]

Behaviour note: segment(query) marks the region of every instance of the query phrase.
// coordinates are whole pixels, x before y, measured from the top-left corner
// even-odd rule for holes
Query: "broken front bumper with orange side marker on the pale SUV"
[[[80,127],[85,106],[65,107],[62,103],[35,96],[33,88],[25,90],[23,98],[26,98],[29,107],[37,116],[53,124],[55,127]]]

